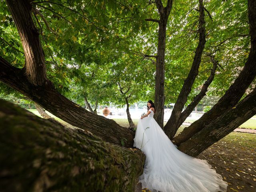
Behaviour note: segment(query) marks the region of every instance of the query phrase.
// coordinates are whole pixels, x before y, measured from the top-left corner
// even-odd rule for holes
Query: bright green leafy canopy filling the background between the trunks
[[[221,66],[207,93],[217,97],[234,82],[250,49],[246,0],[212,0],[204,6],[210,14],[205,12],[207,42],[187,104],[210,76],[209,55],[214,55]],[[48,79],[59,92],[82,106],[85,96],[92,104],[123,105],[124,97],[129,95],[130,104],[154,100],[156,66],[143,55],[157,53],[158,24],[145,21],[159,19],[155,3],[36,0],[32,7],[39,10],[51,29],[40,14],[32,14],[40,33]],[[166,104],[176,102],[194,58],[197,8],[197,0],[173,3],[166,32]],[[18,68],[24,67],[22,44],[4,1],[0,1],[0,56]],[[124,92],[129,89],[125,95],[117,83]],[[2,93],[14,94],[7,86],[0,86]]]

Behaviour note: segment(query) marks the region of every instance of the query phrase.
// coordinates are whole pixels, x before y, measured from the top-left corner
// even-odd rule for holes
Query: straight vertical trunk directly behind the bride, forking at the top
[[[155,100],[156,111],[154,118],[161,128],[164,127],[164,56],[166,47],[166,25],[170,11],[172,9],[172,0],[168,0],[167,6],[162,5],[161,0],[156,0],[160,20],[158,21],[158,46],[156,56],[156,77],[155,77]]]

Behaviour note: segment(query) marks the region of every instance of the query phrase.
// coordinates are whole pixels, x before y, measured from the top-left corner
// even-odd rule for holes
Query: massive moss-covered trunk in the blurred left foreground
[[[1,191],[134,192],[145,156],[0,100]]]

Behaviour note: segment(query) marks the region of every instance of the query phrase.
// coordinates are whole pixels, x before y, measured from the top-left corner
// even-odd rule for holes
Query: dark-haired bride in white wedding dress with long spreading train
[[[160,192],[226,192],[227,183],[206,160],[180,152],[154,120],[154,103],[138,122],[134,146],[146,155],[142,188]]]

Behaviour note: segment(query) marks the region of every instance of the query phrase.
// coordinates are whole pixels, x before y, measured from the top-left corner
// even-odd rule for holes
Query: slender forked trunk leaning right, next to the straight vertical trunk
[[[184,80],[184,84],[182,86],[182,89],[180,91],[178,99],[175,102],[170,119],[164,126],[164,131],[170,139],[172,139],[174,137],[175,133],[177,132],[178,128],[180,127],[180,122],[181,122],[180,118],[181,118],[181,114],[182,114],[182,109],[184,108],[184,105],[186,104],[186,102],[188,100],[188,95],[190,94],[190,91],[194,84],[196,76],[198,75],[198,69],[199,69],[199,66],[201,63],[201,57],[202,57],[202,53],[203,53],[204,46],[206,43],[206,30],[205,30],[203,0],[199,0],[198,33],[199,33],[199,43],[196,48],[196,52],[195,52],[195,56],[194,56],[194,60],[193,60],[190,72],[188,73],[188,77],[186,78],[186,80]],[[214,73],[215,73],[215,70],[214,70]],[[210,79],[210,80],[212,81],[212,79]],[[209,83],[205,84],[205,85],[208,87]],[[205,91],[207,90],[207,87],[204,88]],[[199,96],[197,98],[195,98],[194,103],[192,103],[192,105],[194,107],[198,104],[198,102],[200,102],[200,100],[202,99],[204,94],[205,94],[205,92],[202,94],[199,94]],[[184,111],[184,113],[182,115],[183,116],[182,119],[185,117],[186,114],[188,114],[189,111],[191,111],[191,108],[193,110],[193,108],[194,108],[193,106],[190,106],[186,112]]]

